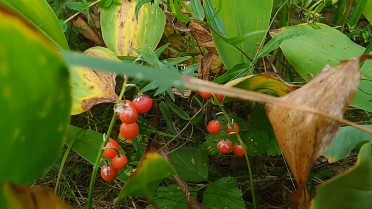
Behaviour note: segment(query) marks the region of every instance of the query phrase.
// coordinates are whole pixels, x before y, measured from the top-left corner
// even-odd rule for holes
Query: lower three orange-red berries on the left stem
[[[102,166],[101,177],[105,181],[111,181],[118,176],[119,170],[126,167],[128,158],[119,153],[120,146],[118,142],[112,138],[109,139],[109,142],[107,142],[106,147],[103,149],[105,149],[105,151],[103,151],[103,157],[112,159],[112,161],[111,163],[106,161],[106,164]]]

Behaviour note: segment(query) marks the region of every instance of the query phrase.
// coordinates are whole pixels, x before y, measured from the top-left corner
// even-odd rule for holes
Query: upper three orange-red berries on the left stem
[[[140,127],[136,123],[138,114],[147,113],[153,106],[153,99],[145,94],[138,94],[132,101],[125,100],[120,106],[116,107],[115,111],[118,113],[121,120],[120,134],[128,140],[134,139]]]

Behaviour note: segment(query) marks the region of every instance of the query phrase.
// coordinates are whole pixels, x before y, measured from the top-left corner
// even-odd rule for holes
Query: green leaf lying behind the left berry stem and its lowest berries
[[[117,140],[119,142],[119,140]],[[70,125],[67,134],[66,145],[71,146],[72,149],[87,160],[89,163],[94,164],[96,158],[101,148],[103,142],[103,134],[90,130],[90,129],[81,129],[77,126]],[[120,148],[120,153],[125,154],[124,150]],[[108,159],[110,162],[111,160]],[[105,164],[105,161],[100,162],[99,167],[102,168],[102,165]],[[125,182],[128,179],[128,173],[132,170],[131,166],[127,166],[124,172],[119,173],[117,179]]]

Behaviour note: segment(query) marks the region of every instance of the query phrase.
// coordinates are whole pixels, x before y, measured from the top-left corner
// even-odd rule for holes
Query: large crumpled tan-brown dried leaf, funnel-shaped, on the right
[[[334,68],[325,66],[309,83],[280,97],[342,118],[359,85],[359,60],[341,61]],[[310,168],[331,143],[340,123],[323,116],[267,103],[267,116],[280,148],[298,183],[289,196],[291,208],[306,208],[310,201],[306,182]]]

